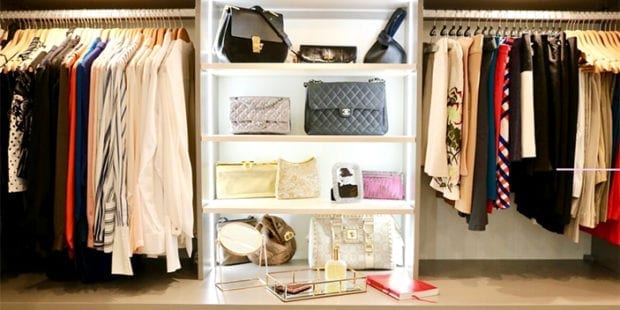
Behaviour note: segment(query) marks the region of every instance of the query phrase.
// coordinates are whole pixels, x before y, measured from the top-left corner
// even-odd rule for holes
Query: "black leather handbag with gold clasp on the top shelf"
[[[260,6],[224,9],[216,42],[218,58],[227,62],[284,62],[291,46],[282,14]]]

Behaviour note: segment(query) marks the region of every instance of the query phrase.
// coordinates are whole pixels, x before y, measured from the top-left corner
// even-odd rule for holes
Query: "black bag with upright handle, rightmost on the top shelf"
[[[385,28],[379,33],[377,41],[370,47],[366,56],[365,63],[406,63],[407,53],[405,49],[394,40],[394,34],[405,20],[407,11],[398,8],[388,21]]]

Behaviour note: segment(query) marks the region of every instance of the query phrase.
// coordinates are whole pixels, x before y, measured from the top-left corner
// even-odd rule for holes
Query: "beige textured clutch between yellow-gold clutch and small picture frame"
[[[315,198],[321,194],[319,170],[316,158],[312,157],[300,163],[278,160],[276,175],[276,198],[296,199]]]

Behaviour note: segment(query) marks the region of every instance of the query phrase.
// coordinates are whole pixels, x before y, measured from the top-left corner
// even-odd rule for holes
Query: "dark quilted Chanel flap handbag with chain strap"
[[[304,129],[309,135],[383,135],[388,130],[385,81],[311,80],[307,88]]]

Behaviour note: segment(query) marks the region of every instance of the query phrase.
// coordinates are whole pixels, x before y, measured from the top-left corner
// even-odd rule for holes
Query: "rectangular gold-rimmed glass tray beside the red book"
[[[323,268],[305,268],[268,272],[265,277],[267,289],[280,300],[288,302],[330,296],[365,293],[366,275],[347,269],[342,280],[324,280]]]

